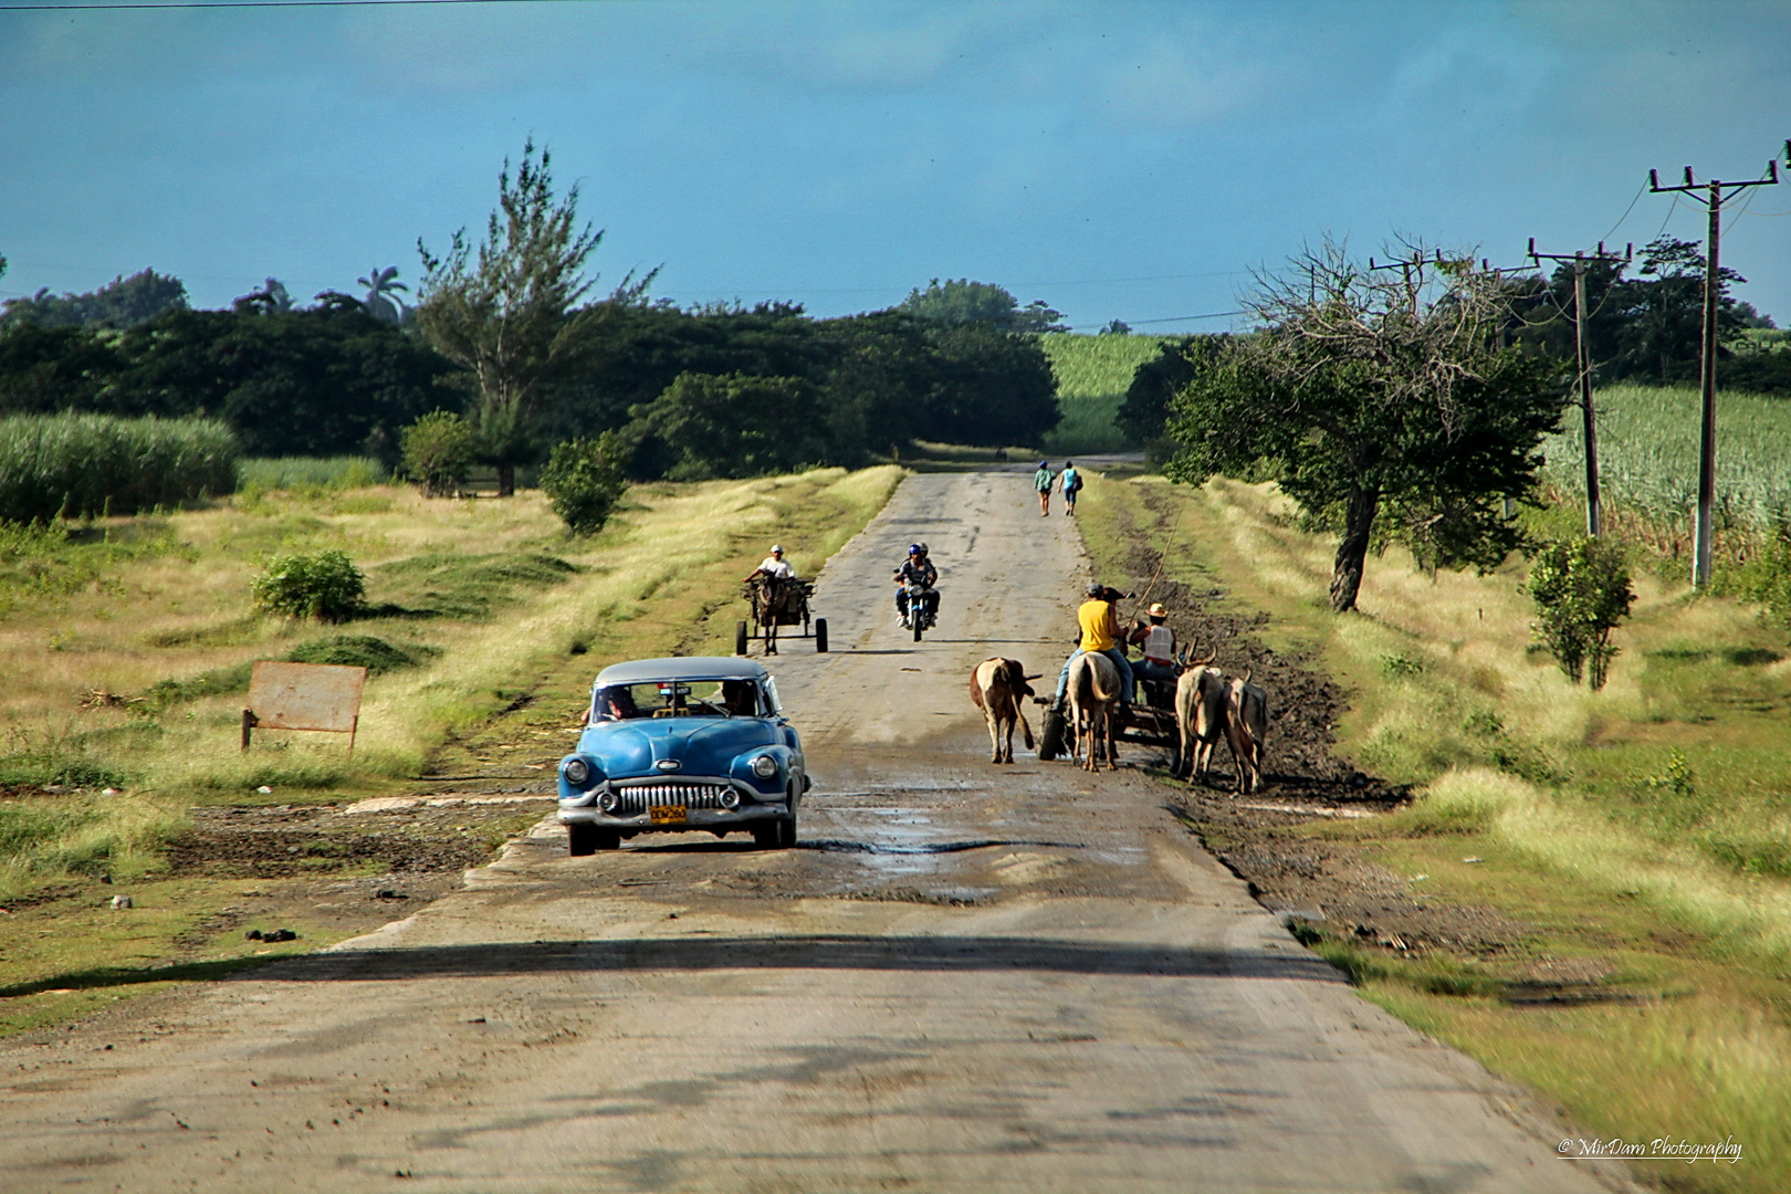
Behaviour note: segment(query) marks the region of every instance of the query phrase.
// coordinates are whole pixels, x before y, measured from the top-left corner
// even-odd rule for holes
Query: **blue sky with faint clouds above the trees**
[[[605,229],[604,286],[663,267],[679,303],[835,315],[974,277],[1073,324],[1221,328],[1144,320],[1232,310],[1325,235],[1499,263],[1701,238],[1637,197],[1648,168],[1757,177],[1791,136],[1791,2],[13,2],[4,294],[416,283],[417,238],[478,231],[532,134]],[[1791,174],[1723,261],[1791,324]]]

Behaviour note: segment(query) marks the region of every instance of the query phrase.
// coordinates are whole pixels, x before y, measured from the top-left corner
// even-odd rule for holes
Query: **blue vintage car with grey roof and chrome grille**
[[[743,829],[793,847],[810,788],[777,684],[750,659],[636,659],[604,668],[578,748],[561,759],[559,818],[573,854],[638,832]]]

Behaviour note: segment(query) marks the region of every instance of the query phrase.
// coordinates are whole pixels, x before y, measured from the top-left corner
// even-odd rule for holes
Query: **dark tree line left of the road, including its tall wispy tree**
[[[360,279],[365,299],[331,290],[310,306],[267,279],[229,310],[193,310],[152,270],[13,299],[0,414],[208,415],[245,455],[398,464],[405,430],[450,412],[505,490],[555,444],[605,431],[630,478],[695,480],[858,465],[913,440],[1030,444],[1057,424],[1033,335],[1060,326],[1044,303],[969,279],[840,319],[654,301],[650,274],[598,294],[587,263],[602,233],[550,165],[527,145],[482,238],[419,242],[410,308],[390,267]]]

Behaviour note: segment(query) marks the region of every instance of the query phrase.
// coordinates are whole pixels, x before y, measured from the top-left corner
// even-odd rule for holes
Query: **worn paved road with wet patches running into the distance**
[[[347,947],[0,1049],[0,1189],[1601,1189],[1152,780],[987,763],[969,668],[1060,659],[1085,569],[1024,478],[910,478],[820,578],[835,653],[774,662],[801,850],[543,827]]]

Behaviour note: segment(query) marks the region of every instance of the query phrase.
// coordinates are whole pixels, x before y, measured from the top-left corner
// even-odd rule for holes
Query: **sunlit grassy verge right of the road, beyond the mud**
[[[1492,576],[1370,559],[1361,614],[1324,603],[1329,541],[1268,487],[1093,483],[1096,562],[1121,526],[1214,612],[1345,686],[1340,746],[1417,784],[1408,809],[1284,832],[1349,843],[1418,900],[1524,925],[1495,952],[1381,949],[1349,925],[1302,936],[1368,999],[1515,1078],[1603,1137],[1734,1139],[1730,1165],[1639,1167],[1667,1189],[1791,1189],[1791,661],[1748,607],[1641,576],[1603,693],[1528,650],[1521,564]],[[1273,695],[1272,695],[1273,698]],[[1273,770],[1273,741],[1270,743]],[[1526,1001],[1538,974],[1574,999]]]

